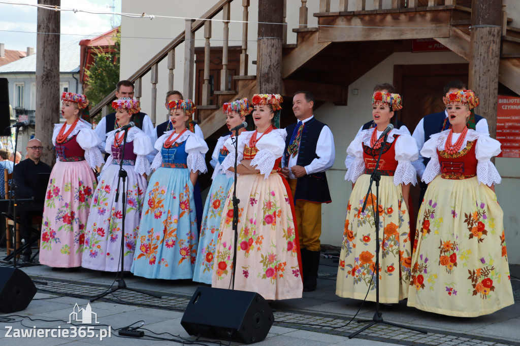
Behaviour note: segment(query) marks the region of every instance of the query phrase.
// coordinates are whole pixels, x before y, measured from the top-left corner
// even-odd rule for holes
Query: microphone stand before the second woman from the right
[[[385,134],[385,136],[384,136],[383,144],[386,143],[386,139],[388,138],[388,133]],[[375,222],[375,245],[376,245],[375,246],[375,265],[374,265],[374,274],[373,274],[373,275],[375,275],[375,313],[374,313],[374,316],[372,317],[372,320],[358,320],[357,323],[370,322],[370,324],[359,329],[358,331],[355,331],[352,334],[350,334],[348,336],[349,339],[354,338],[356,335],[358,335],[363,330],[366,330],[378,323],[384,323],[384,324],[391,325],[394,327],[419,331],[424,334],[428,333],[426,330],[412,328],[412,327],[404,326],[404,325],[393,323],[393,322],[383,321],[383,314],[379,310],[379,248],[380,248],[380,246],[379,246],[379,212],[376,211],[375,208],[377,208],[377,206],[379,206],[379,182],[381,181],[381,171],[379,171],[379,162],[381,160],[381,155],[383,154],[383,146],[384,145],[381,145],[381,148],[379,150],[378,161],[375,162],[374,171],[372,172],[372,175],[370,176],[370,184],[368,185],[368,192],[365,197],[365,202],[363,203],[363,207],[361,209],[361,212],[365,212],[365,208],[367,207],[368,197],[372,191],[372,183],[375,181],[375,205],[376,205],[376,207],[373,208],[374,222]]]

